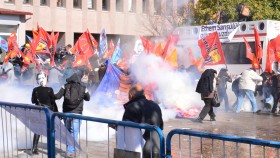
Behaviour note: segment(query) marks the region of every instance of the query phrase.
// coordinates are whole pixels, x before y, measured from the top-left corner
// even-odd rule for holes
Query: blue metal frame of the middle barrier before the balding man
[[[126,126],[126,127],[132,127],[132,128],[139,128],[139,129],[145,129],[149,131],[155,131],[159,136],[160,141],[160,156],[161,158],[165,157],[165,142],[164,142],[164,134],[162,130],[157,126],[151,126],[147,124],[137,124],[133,122],[126,122],[126,121],[116,121],[116,120],[109,120],[109,119],[102,119],[102,118],[95,118],[95,117],[89,117],[89,116],[82,116],[82,115],[76,115],[71,113],[53,113],[51,116],[51,157],[55,157],[55,118],[73,118],[73,119],[79,119],[79,120],[86,120],[86,121],[92,121],[92,122],[98,122],[108,125],[115,125],[115,126]],[[98,130],[98,129],[97,129]]]

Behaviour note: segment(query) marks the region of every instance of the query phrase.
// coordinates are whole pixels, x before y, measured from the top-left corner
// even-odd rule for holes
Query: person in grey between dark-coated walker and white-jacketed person
[[[228,95],[227,95],[227,82],[232,82],[232,79],[228,73],[228,69],[222,68],[218,74],[219,84],[217,85],[217,92],[220,102],[224,100],[225,111],[229,112]]]

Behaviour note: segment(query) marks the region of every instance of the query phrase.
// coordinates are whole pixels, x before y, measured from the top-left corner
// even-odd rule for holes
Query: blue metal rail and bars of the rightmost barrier
[[[172,139],[172,136],[175,135],[175,134],[179,134],[179,136],[180,135],[188,135],[188,136],[194,136],[194,137],[200,137],[200,138],[210,138],[212,140],[215,139],[215,140],[229,141],[229,142],[235,142],[235,143],[249,144],[250,145],[250,157],[252,156],[251,155],[251,145],[262,146],[263,150],[265,150],[264,147],[272,147],[272,148],[276,148],[277,149],[277,157],[279,158],[280,142],[267,141],[267,140],[259,140],[259,139],[252,139],[252,138],[244,138],[244,137],[239,137],[239,136],[213,134],[213,133],[206,133],[206,132],[197,132],[197,131],[182,130],[182,129],[173,129],[167,135],[167,138],[166,138],[166,155],[167,156],[166,157],[169,157],[169,158],[172,157],[172,153],[171,153],[171,139]],[[212,141],[212,143],[213,143],[213,141]],[[200,146],[200,147],[202,147],[202,146]],[[200,149],[200,150],[202,150],[202,149]],[[237,150],[238,150],[238,148],[237,148]],[[237,154],[236,157],[238,157],[238,151],[236,151],[236,154]],[[213,156],[214,155],[212,155],[212,157]],[[223,152],[223,157],[226,157],[225,152]],[[263,152],[263,157],[265,157],[265,151]]]

